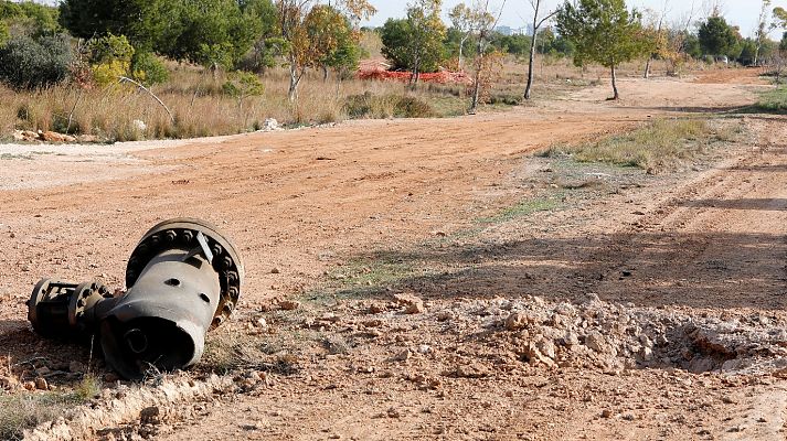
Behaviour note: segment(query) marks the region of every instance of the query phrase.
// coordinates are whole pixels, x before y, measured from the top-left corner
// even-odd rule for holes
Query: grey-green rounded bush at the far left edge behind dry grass
[[[0,47],[0,80],[15,89],[35,89],[68,78],[73,53],[67,36],[14,36]]]

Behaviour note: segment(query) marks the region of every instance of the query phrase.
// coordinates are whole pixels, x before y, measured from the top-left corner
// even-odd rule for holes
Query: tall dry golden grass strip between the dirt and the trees
[[[370,43],[371,44],[371,43]],[[621,75],[640,75],[641,63],[624,66]],[[313,73],[302,85],[296,104],[287,99],[288,79],[280,69],[260,77],[262,96],[238,99],[222,86],[227,76],[213,77],[203,69],[170,64],[170,79],[153,87],[174,115],[132,85],[79,89],[63,85],[34,92],[0,86],[0,137],[14,129],[53,130],[89,135],[100,141],[222,136],[257,130],[268,118],[286,126],[337,122],[352,118],[421,118],[464,115],[469,106],[461,85],[422,84],[416,89],[392,82],[323,80]],[[658,67],[655,67],[658,74]],[[543,58],[536,65],[536,98],[554,98],[568,90],[598,84],[605,72],[579,69],[567,60]],[[525,65],[507,60],[500,79],[489,93],[487,110],[521,104]],[[142,130],[136,120],[143,121]]]

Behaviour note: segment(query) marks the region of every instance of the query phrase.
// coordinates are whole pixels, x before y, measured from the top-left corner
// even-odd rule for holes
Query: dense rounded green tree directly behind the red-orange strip
[[[422,72],[435,72],[444,58],[446,29],[440,20],[442,0],[415,0],[404,20],[389,19],[383,25],[382,53],[396,68],[411,72],[418,83]]]

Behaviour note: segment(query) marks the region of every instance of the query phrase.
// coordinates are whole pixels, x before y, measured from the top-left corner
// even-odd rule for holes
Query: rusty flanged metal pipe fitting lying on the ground
[[[244,268],[233,244],[202,220],[152,227],[131,252],[125,294],[104,284],[42,279],[28,302],[45,337],[98,335],[107,364],[123,377],[185,368],[204,351],[205,333],[230,318]]]

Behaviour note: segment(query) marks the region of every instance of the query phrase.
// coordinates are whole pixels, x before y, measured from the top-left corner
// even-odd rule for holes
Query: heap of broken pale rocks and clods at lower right
[[[589,294],[581,304],[538,297],[460,302],[437,311],[435,319],[447,330],[464,329],[521,361],[550,368],[752,374],[787,367],[781,359],[787,356],[785,323],[762,314],[722,320],[613,304]]]

